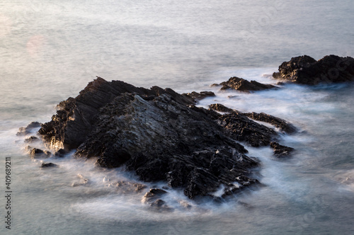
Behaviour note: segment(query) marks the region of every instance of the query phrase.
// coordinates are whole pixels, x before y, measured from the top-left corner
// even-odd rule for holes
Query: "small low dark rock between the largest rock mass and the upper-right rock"
[[[261,84],[258,81],[247,81],[246,79],[241,79],[237,76],[233,76],[228,81],[222,82],[220,85],[222,85],[221,90],[232,88],[234,90],[244,92],[262,91],[270,88],[276,88],[276,86],[270,84]]]

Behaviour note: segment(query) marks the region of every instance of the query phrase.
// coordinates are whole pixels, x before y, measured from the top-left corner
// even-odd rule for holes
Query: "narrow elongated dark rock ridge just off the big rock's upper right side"
[[[278,127],[280,130],[286,133],[293,133],[296,132],[297,128],[292,125],[291,123],[279,118],[274,117],[272,115],[266,113],[244,113],[247,117],[250,117],[253,120],[261,121],[261,122],[268,122],[275,127]]]

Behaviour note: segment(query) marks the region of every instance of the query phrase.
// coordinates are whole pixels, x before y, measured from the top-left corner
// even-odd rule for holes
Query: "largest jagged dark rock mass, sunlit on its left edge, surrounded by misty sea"
[[[197,108],[169,88],[101,78],[59,103],[39,133],[52,149],[76,149],[77,157],[97,157],[103,167],[125,164],[141,180],[165,180],[190,198],[212,195],[222,184],[229,195],[258,183],[251,178],[257,161],[235,140],[262,146],[277,135],[245,115]]]

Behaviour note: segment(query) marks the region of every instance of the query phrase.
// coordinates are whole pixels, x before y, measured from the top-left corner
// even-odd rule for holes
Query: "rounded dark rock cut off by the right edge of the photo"
[[[318,61],[307,55],[292,57],[279,66],[279,72],[273,77],[307,85],[354,81],[354,59],[336,55],[327,55]]]

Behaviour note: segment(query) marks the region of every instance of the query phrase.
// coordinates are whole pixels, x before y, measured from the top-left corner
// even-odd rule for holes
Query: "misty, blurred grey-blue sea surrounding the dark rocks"
[[[271,74],[299,55],[354,57],[353,12],[353,0],[1,0],[0,234],[354,234],[354,84],[255,93],[210,86],[232,76],[276,84]],[[292,122],[299,131],[280,134],[280,144],[296,151],[277,159],[269,147],[245,145],[261,161],[254,177],[262,187],[221,203],[167,189],[168,212],[142,202],[148,189],[113,187],[144,183],[124,167],[72,154],[30,159],[18,128],[50,121],[96,76],[213,91],[198,106]]]

